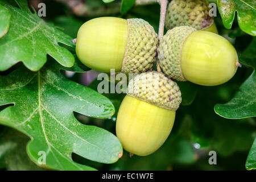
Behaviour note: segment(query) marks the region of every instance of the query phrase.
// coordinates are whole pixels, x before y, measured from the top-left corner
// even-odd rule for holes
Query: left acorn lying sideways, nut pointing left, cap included
[[[152,68],[157,46],[156,32],[145,20],[102,17],[82,24],[76,54],[97,71],[141,73]]]

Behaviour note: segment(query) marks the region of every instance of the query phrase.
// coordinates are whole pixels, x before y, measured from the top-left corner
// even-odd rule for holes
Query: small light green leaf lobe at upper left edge
[[[2,38],[9,30],[10,27],[10,12],[0,5],[0,38]]]

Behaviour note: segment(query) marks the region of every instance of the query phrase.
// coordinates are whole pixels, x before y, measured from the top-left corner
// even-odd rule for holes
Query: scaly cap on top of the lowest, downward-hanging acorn
[[[146,72],[129,81],[127,94],[139,100],[176,111],[181,103],[181,92],[176,82],[159,72]],[[150,112],[150,111],[148,111]]]

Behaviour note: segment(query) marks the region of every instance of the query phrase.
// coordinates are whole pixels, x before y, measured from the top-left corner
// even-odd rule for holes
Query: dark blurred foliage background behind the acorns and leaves
[[[120,1],[105,4],[101,0],[86,0],[84,9],[73,9],[68,1],[30,1],[35,6],[46,3],[47,16],[44,18],[66,34],[76,38],[82,23],[98,16],[117,16],[121,18],[142,18],[147,20],[158,32],[160,8],[158,4],[135,6],[126,14],[120,13]],[[214,1],[211,1],[214,2]],[[35,6],[35,9],[37,7]],[[251,43],[253,37],[240,30],[235,18],[230,30],[224,28],[220,14],[215,17],[219,34],[234,44],[238,54]],[[99,170],[245,170],[245,162],[250,147],[256,137],[255,118],[225,119],[214,112],[214,105],[230,101],[241,84],[253,72],[245,65],[239,68],[229,82],[219,86],[190,86],[196,90],[191,97],[193,102],[183,103],[177,110],[174,128],[167,141],[154,154],[146,157],[133,156],[124,151],[123,157],[114,164],[94,163],[73,154],[75,162],[95,167]],[[97,90],[98,72],[67,73],[66,76],[80,84]],[[125,94],[105,94],[113,102],[116,113],[109,119],[96,119],[76,114],[76,118],[86,125],[102,127],[115,134],[115,120],[118,107]],[[0,143],[5,135],[13,133],[9,144],[15,150],[9,153],[6,161],[0,160],[2,169],[42,169],[32,163],[26,156],[28,138],[15,130],[0,126]],[[209,151],[217,152],[217,165],[209,165]],[[16,152],[16,153],[15,153]],[[19,155],[19,158],[15,154]],[[1,148],[0,148],[1,156]],[[7,163],[7,164],[3,164]],[[5,167],[5,168],[3,168]]]

